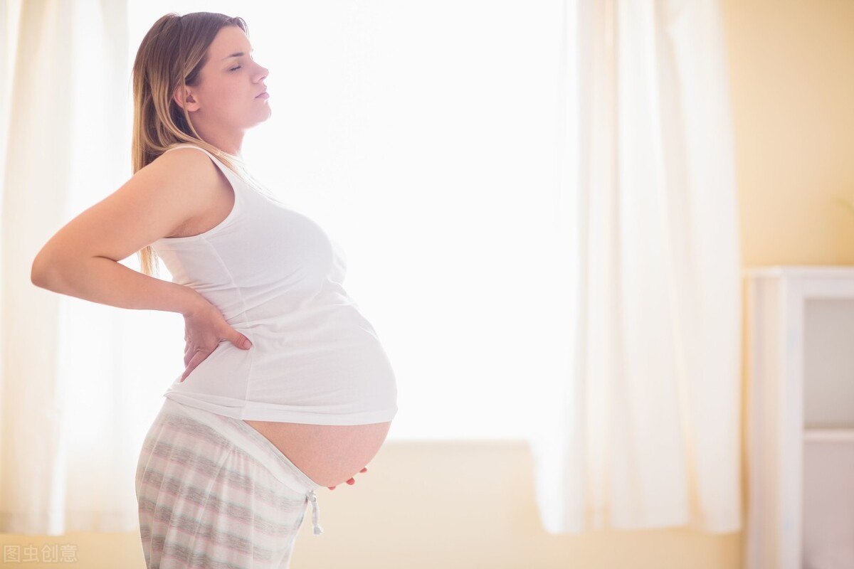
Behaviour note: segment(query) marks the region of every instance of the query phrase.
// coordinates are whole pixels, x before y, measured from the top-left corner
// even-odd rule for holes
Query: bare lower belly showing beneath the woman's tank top
[[[376,456],[390,422],[370,425],[306,425],[247,421],[321,486],[336,486],[354,477]]]

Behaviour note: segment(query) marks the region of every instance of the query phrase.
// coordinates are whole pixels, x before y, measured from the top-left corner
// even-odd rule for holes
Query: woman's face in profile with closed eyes
[[[270,117],[264,79],[268,70],[252,59],[249,38],[237,26],[225,26],[208,47],[199,83],[190,87],[196,128],[246,130]],[[190,110],[191,107],[188,107]]]

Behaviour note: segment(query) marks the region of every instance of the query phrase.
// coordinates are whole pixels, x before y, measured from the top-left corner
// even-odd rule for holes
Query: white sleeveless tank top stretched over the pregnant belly
[[[254,421],[391,421],[395,374],[374,328],[342,287],[341,247],[204,148],[173,148],[184,147],[202,150],[219,166],[234,189],[234,206],[213,229],[164,237],[151,247],[173,282],[202,294],[253,345],[242,350],[221,340],[183,382],[178,374],[164,397]]]

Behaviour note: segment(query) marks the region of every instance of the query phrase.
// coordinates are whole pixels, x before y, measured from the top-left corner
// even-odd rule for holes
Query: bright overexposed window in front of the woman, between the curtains
[[[342,243],[398,378],[390,437],[526,436],[560,353],[560,4],[131,4],[131,59],[169,11],[249,23],[273,113],[243,154]]]

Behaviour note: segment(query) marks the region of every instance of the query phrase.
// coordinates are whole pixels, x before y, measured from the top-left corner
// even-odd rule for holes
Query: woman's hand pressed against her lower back
[[[243,350],[251,347],[249,339],[231,328],[229,323],[225,322],[222,312],[210,303],[204,303],[195,311],[184,314],[184,340],[186,341],[184,345],[186,369],[184,374],[181,374],[181,381],[184,381],[199,363],[210,356],[222,340],[228,340]]]

